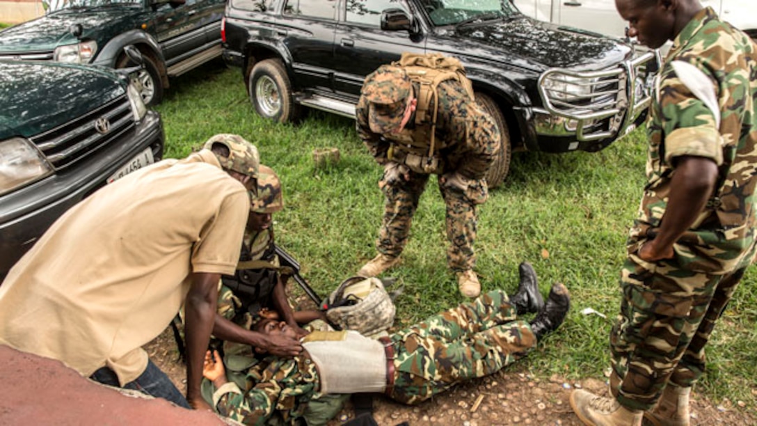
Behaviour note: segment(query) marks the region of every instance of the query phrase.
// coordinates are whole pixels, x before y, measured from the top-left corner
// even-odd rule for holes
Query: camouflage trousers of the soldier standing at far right
[[[702,376],[704,347],[746,268],[713,275],[678,268],[672,259],[651,271],[643,263],[630,255],[623,267],[610,390],[623,406],[648,410],[668,381],[690,387]]]

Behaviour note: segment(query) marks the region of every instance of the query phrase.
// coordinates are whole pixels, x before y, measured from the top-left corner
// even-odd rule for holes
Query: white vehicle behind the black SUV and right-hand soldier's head
[[[615,0],[511,0],[530,17],[608,36],[624,37],[628,23],[615,10]],[[731,25],[757,39],[755,0],[699,0]]]

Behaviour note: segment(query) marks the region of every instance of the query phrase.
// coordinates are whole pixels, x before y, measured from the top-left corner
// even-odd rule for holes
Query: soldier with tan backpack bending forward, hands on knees
[[[441,70],[412,73],[397,64],[383,65],[363,83],[357,131],[384,166],[378,186],[386,203],[378,255],[358,274],[372,277],[397,265],[428,175],[437,174],[447,205],[447,263],[456,272],[460,293],[472,298],[481,293],[473,271],[475,210],[488,198],[484,176],[500,149],[500,136],[476,104],[459,61],[441,55],[421,58],[441,64]],[[447,64],[459,71],[450,71]]]

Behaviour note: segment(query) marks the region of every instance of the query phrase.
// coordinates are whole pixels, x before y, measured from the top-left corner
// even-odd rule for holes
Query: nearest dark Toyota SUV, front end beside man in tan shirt
[[[68,208],[160,160],[164,133],[129,79],[104,68],[0,60],[0,99],[2,282]]]

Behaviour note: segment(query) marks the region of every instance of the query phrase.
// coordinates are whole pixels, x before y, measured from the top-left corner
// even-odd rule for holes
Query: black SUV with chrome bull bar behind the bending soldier
[[[229,0],[224,57],[257,112],[354,117],[363,79],[402,52],[459,58],[511,150],[597,151],[643,120],[655,52],[521,14],[503,0]]]

